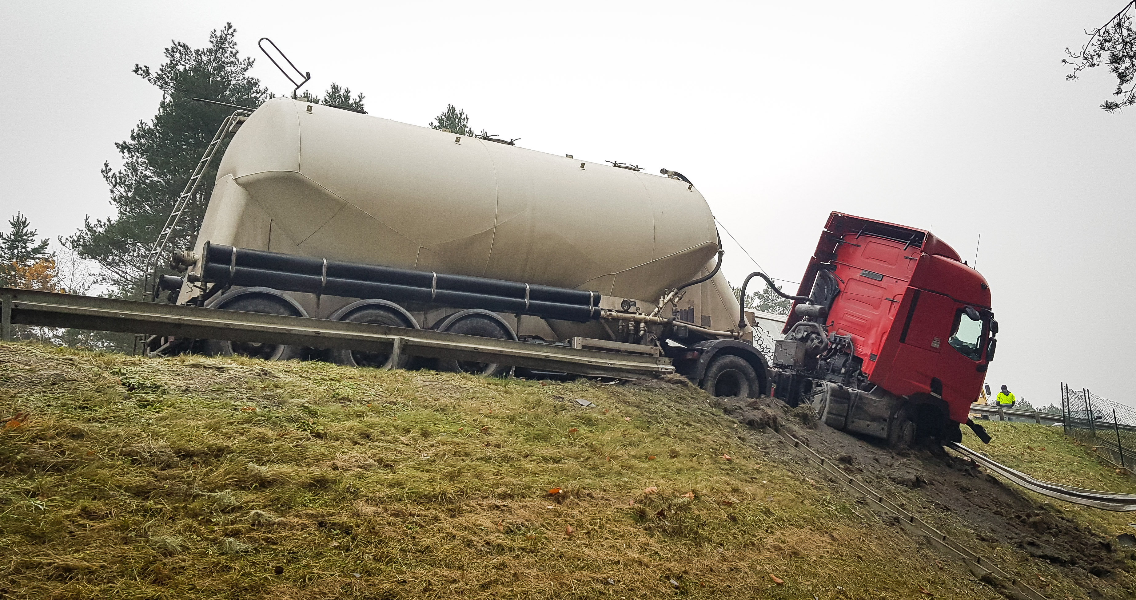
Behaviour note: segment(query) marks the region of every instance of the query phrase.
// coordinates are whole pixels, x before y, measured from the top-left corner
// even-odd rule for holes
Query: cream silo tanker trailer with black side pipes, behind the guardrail
[[[234,135],[193,252],[175,257],[184,281],[161,285],[181,284],[178,304],[668,356],[711,392],[755,397],[768,365],[738,327],[721,255],[705,200],[680,175],[278,98]]]

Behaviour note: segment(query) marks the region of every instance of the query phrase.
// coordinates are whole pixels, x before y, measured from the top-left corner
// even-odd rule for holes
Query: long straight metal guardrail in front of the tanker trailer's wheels
[[[587,377],[643,379],[675,372],[670,358],[665,357],[461,336],[427,329],[14,288],[0,288],[0,332],[5,340],[11,339],[12,324],[26,324],[395,355],[403,353],[428,358],[503,363]]]

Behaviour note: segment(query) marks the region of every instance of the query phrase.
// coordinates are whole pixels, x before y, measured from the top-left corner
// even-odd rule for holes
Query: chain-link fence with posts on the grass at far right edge
[[[1124,467],[1136,459],[1136,408],[1061,383],[1064,432],[1099,451],[1112,455]]]

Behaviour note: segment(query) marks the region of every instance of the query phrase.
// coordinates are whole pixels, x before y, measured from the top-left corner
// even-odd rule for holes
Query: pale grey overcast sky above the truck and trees
[[[933,227],[971,263],[982,234],[1002,326],[987,382],[1136,405],[1136,111],[1105,113],[1114,79],[1061,65],[1122,5],[3,1],[0,218],[57,236],[108,216],[99,169],[160,99],[131,69],[232,22],[277,94],[261,36],[373,115],[426,125],[453,103],[525,147],[678,170],[782,279],[833,210]],[[737,282],[755,268],[726,246]]]

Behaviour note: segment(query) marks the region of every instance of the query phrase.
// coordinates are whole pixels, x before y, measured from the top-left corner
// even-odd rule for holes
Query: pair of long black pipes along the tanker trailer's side
[[[599,294],[550,286],[528,286],[478,277],[427,273],[389,267],[333,263],[324,260],[232,246],[206,246],[202,279],[216,285],[265,286],[284,291],[303,291],[349,298],[442,304],[461,309],[531,314],[546,319],[586,322],[600,316]],[[245,252],[250,254],[245,254]],[[254,254],[252,254],[254,253]],[[219,260],[227,256],[227,261]],[[296,259],[296,260],[293,260]],[[253,262],[265,268],[245,265]],[[244,264],[242,264],[244,263]],[[315,265],[318,264],[318,271]],[[333,268],[334,265],[334,268]],[[366,268],[366,269],[362,269]],[[383,276],[385,280],[335,277],[343,274]],[[456,289],[457,288],[457,289]],[[494,294],[498,291],[500,294]],[[573,294],[562,294],[573,293]],[[549,297],[586,298],[585,303],[552,302]]]

